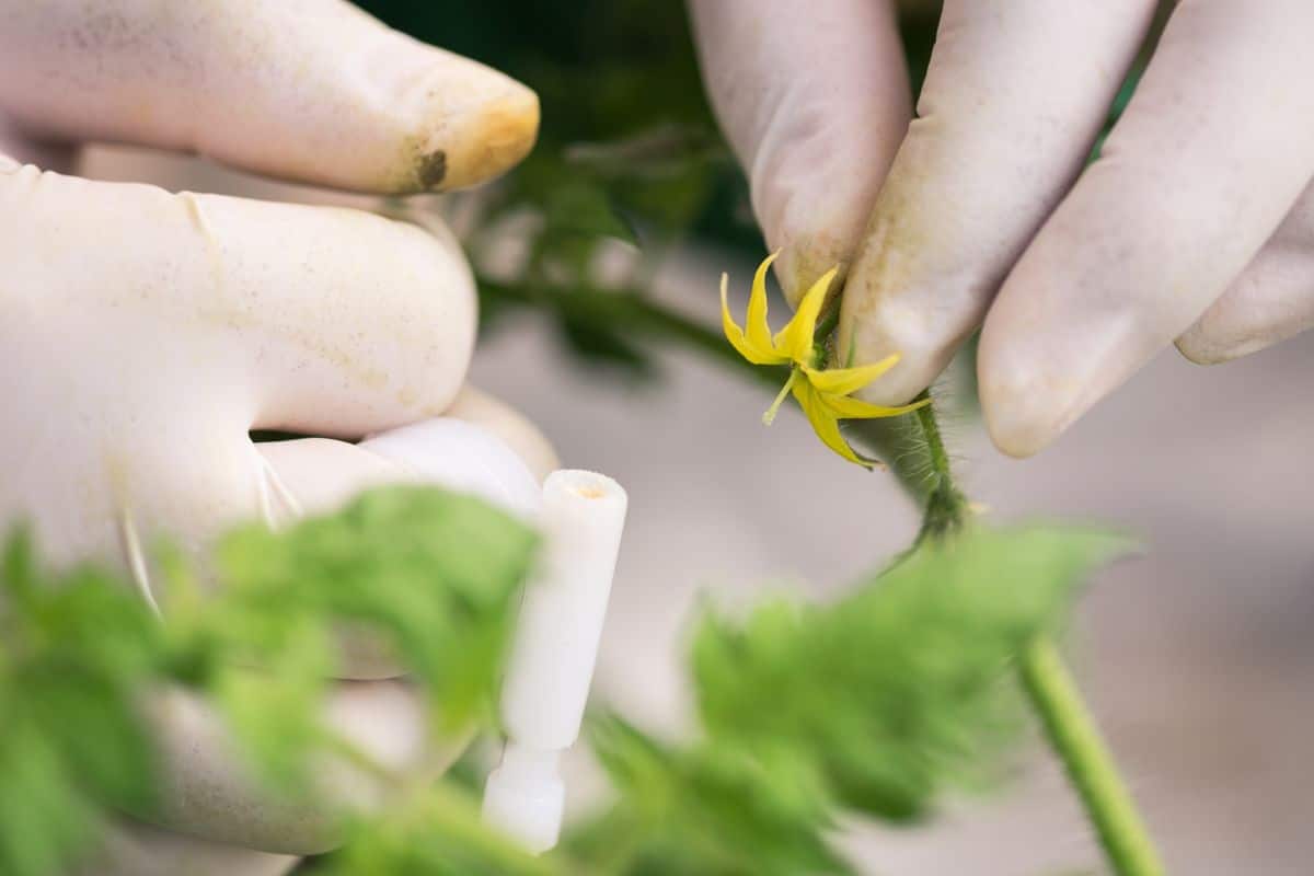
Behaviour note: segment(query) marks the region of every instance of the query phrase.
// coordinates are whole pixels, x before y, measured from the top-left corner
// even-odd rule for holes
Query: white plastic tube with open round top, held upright
[[[544,550],[502,690],[506,749],[484,793],[485,821],[532,852],[561,833],[558,764],[579,735],[627,504],[620,485],[594,471],[553,471],[543,485]]]

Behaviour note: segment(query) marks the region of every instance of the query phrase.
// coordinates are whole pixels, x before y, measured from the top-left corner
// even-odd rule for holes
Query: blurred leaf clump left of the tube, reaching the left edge
[[[304,792],[330,742],[319,716],[344,624],[386,637],[443,703],[439,730],[490,717],[535,544],[477,499],[392,487],[283,533],[233,532],[215,592],[166,552],[160,623],[118,575],[47,571],[13,533],[0,567],[0,873],[62,872],[104,810],[150,816],[139,704],[162,686],[206,695],[271,787]]]

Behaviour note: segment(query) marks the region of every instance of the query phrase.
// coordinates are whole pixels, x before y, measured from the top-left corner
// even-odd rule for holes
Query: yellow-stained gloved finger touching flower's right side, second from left
[[[899,364],[863,393],[900,405],[975,330],[1071,185],[1154,0],[950,0],[840,320],[841,359]]]

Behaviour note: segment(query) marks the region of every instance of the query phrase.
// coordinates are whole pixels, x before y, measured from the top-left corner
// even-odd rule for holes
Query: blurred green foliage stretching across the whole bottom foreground
[[[352,628],[380,636],[443,704],[435,733],[489,728],[535,549],[522,524],[473,498],[390,487],[280,533],[240,527],[219,542],[214,587],[180,554],[159,557],[163,623],[118,575],[45,570],[18,532],[0,569],[0,872],[60,872],[102,813],[150,817],[138,704],[184,686],[218,708],[273,791],[305,793],[327,751],[392,788],[381,813],[340,813],[347,846],[315,872],[846,873],[840,812],[924,814],[1000,771],[1020,720],[1010,663],[1120,544],[968,531],[830,604],[704,612],[691,651],[702,733],[668,743],[618,716],[593,721],[614,800],[535,859],[480,822],[469,783],[394,775],[319,717]]]

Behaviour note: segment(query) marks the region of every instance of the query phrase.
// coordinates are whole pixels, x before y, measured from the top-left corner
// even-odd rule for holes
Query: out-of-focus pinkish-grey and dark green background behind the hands
[[[681,4],[360,5],[543,99],[543,135],[523,168],[494,189],[403,209],[445,213],[480,269],[486,336],[473,381],[530,415],[566,465],[629,490],[595,697],[679,732],[696,600],[736,604],[782,588],[825,599],[903,549],[916,508],[890,475],[862,475],[825,452],[802,418],[763,429],[769,393],[724,366],[706,338],[660,318],[670,309],[715,326],[720,271],[746,289],[762,255]],[[913,5],[916,83],[936,9]],[[84,169],[330,197],[137,150],[95,148]],[[1171,872],[1310,872],[1314,339],[1213,369],[1167,352],[1025,462],[986,440],[971,362],[961,365],[943,391],[975,499],[996,519],[1091,520],[1143,538],[1143,557],[1092,583],[1074,661]],[[590,766],[576,768],[589,785]],[[1000,795],[953,801],[922,825],[845,833],[872,873],[1100,872],[1062,775],[1035,745]]]

